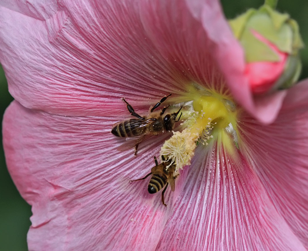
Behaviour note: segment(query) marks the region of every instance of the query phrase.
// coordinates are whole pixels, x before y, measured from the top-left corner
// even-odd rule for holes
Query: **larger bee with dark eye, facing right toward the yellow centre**
[[[136,155],[138,145],[141,142],[150,138],[151,136],[161,135],[165,132],[173,130],[175,123],[178,122],[180,120],[180,117],[182,116],[181,113],[179,119],[176,120],[176,117],[180,113],[182,106],[177,112],[171,114],[168,113],[164,115],[164,112],[166,111],[165,106],[161,110],[161,112],[153,112],[170,95],[171,93],[167,96],[164,96],[156,105],[154,105],[148,117],[146,116],[142,117],[139,114],[137,114],[132,108],[132,106],[128,104],[128,102],[124,98],[122,98],[131,115],[135,116],[138,119],[119,121],[112,126],[111,133],[113,135],[117,137],[127,138],[127,141],[117,148],[118,151],[125,151],[132,147],[135,147],[135,155]]]

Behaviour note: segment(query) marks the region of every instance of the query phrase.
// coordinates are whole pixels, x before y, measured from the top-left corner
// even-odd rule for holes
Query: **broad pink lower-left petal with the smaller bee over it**
[[[137,157],[120,153],[110,133],[116,119],[51,115],[16,101],[6,110],[8,169],[33,211],[29,250],[155,250],[178,192],[166,192],[166,208],[160,193],[148,194],[148,180],[128,180],[150,172],[164,138]]]

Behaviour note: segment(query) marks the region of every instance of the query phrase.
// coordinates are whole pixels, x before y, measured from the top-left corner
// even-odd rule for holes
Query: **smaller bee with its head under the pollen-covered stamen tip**
[[[165,160],[164,155],[161,155],[161,159],[163,161]],[[170,167],[168,167],[168,170],[166,170],[166,167],[170,164],[170,161],[158,164],[156,157],[154,157],[154,161],[156,166],[152,167],[151,172],[148,175],[146,175],[144,178],[141,179],[130,180],[130,182],[145,179],[152,174],[152,177],[148,185],[148,192],[150,194],[155,194],[158,191],[160,191],[163,187],[165,187],[163,192],[161,193],[161,201],[165,206],[167,206],[164,201],[164,193],[168,187],[168,184],[170,184],[172,192],[175,190],[174,179],[178,175],[173,176],[173,173],[176,170],[176,166],[175,164],[172,164]]]

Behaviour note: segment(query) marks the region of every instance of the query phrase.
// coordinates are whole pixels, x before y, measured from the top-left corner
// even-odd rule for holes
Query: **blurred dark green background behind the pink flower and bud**
[[[263,1],[260,0],[223,0],[221,1],[226,17],[233,18],[250,7],[257,8]],[[307,0],[280,0],[277,9],[288,12],[298,21],[302,38],[308,45],[308,1]],[[308,49],[301,51],[303,70],[301,79],[308,75]],[[0,68],[0,112],[3,115],[5,108],[13,98],[7,90],[7,83],[2,68]],[[2,140],[1,140],[2,142]],[[30,206],[20,197],[10,175],[6,170],[3,149],[0,149],[0,250],[24,251],[27,250],[26,234],[30,226]],[[42,250],[43,251],[43,250]]]

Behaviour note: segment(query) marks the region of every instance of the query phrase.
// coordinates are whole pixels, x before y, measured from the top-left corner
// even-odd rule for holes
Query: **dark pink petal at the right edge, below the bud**
[[[245,115],[242,150],[272,203],[308,248],[308,80],[290,89],[277,120],[268,126]]]

